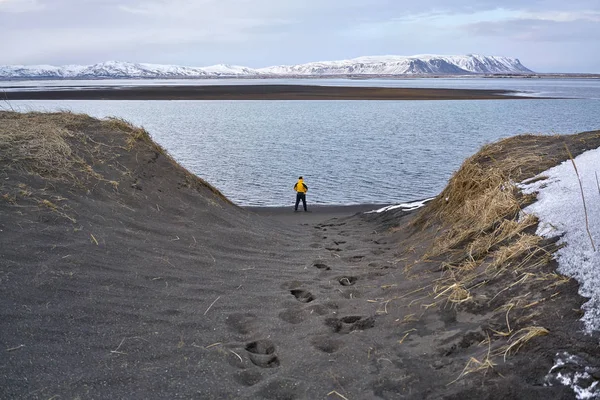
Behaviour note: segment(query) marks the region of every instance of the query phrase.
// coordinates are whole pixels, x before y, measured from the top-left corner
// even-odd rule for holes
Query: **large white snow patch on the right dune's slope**
[[[589,230],[596,246],[594,251],[586,230],[582,193],[573,163],[568,160],[541,173],[547,177],[520,185],[524,193],[537,192],[537,202],[523,210],[539,220],[537,234],[550,238],[561,236],[564,244],[555,254],[558,272],[577,280],[579,294],[589,300],[583,305],[582,321],[588,332],[600,328],[600,148],[575,158],[587,205]]]

